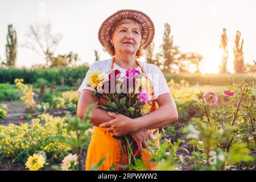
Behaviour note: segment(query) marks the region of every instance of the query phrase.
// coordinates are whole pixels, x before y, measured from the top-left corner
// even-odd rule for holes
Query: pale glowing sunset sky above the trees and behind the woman
[[[52,33],[63,35],[56,50],[64,54],[78,53],[82,63],[94,62],[94,49],[100,59],[109,59],[98,41],[98,28],[109,15],[121,9],[135,9],[146,13],[155,24],[155,53],[163,39],[164,23],[171,25],[174,44],[181,52],[196,52],[204,56],[200,65],[203,73],[217,73],[221,63],[219,48],[222,28],[227,29],[229,60],[228,69],[233,72],[233,46],[236,31],[244,39],[245,61],[256,59],[256,1],[60,1],[60,0],[0,0],[0,57],[5,59],[8,24],[13,24],[18,36],[18,67],[45,63],[30,49],[20,45],[26,42],[30,24],[50,23]],[[143,59],[141,59],[143,61]]]

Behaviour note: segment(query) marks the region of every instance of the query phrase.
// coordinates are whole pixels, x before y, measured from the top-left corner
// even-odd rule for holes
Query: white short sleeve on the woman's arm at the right
[[[166,78],[156,65],[154,65],[154,73],[152,79],[155,99],[164,93],[171,93],[167,86]]]

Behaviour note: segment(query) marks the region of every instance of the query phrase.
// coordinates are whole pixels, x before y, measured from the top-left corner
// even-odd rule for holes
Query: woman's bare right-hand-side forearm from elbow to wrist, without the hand
[[[157,129],[176,121],[177,117],[176,106],[171,107],[170,105],[164,105],[150,114],[135,118],[134,125],[137,131],[142,131],[145,129]]]

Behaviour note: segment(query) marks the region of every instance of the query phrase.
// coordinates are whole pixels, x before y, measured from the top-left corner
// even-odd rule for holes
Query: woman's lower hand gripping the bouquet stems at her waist
[[[130,133],[130,135],[131,137],[133,137],[133,139],[137,143],[138,150],[140,153],[142,152],[142,147],[143,148],[147,147],[146,141],[153,139],[151,133],[148,130]]]

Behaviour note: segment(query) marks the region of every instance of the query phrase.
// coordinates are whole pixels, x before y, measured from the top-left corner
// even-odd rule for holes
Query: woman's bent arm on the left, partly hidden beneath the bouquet
[[[92,90],[82,90],[81,96],[79,98],[79,102],[77,104],[77,116],[79,118],[84,118],[84,114],[89,105],[98,101],[97,97],[92,96]],[[99,126],[101,123],[107,122],[112,120],[113,118],[110,117],[106,110],[98,108],[95,106],[92,110],[92,117],[90,118],[90,122],[93,126]]]

